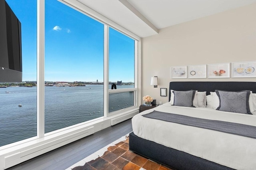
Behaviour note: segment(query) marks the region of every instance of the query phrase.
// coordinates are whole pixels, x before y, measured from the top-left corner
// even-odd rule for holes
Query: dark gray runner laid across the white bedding
[[[158,119],[182,125],[200,127],[214,131],[240,135],[256,139],[256,127],[251,125],[244,125],[240,123],[232,123],[226,121],[209,120],[197,117],[190,117],[185,115],[178,115],[173,113],[165,113],[161,111],[153,111],[151,113],[142,115],[151,119]]]

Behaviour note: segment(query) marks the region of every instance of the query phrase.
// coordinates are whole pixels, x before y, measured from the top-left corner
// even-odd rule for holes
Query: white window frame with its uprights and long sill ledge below
[[[37,136],[0,147],[0,169],[9,168],[40,154],[81,139],[92,133],[110,127],[131,118],[138,113],[141,100],[141,41],[140,37],[98,14],[76,0],[59,0],[60,2],[82,12],[104,24],[104,116],[49,133],[44,133],[44,14],[45,1],[37,0]],[[108,89],[108,29],[117,31],[135,40],[134,49],[134,88]],[[107,32],[107,34],[105,33]],[[108,113],[108,96],[118,92],[134,92],[134,106]],[[90,131],[87,135],[82,131]],[[20,157],[20,155],[23,157]],[[26,154],[25,154],[26,153]],[[8,161],[6,162],[6,158]]]

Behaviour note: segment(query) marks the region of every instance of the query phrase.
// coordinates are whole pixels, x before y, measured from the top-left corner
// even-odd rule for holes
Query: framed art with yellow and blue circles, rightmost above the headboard
[[[256,77],[256,61],[234,62],[231,72],[232,78]]]

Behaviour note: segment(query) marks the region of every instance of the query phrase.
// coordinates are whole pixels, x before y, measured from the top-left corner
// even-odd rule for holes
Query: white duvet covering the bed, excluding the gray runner
[[[230,168],[256,170],[256,139],[141,116],[153,110],[252,126],[256,126],[255,115],[201,107],[171,106],[166,103],[135,115],[132,118],[132,129],[138,137],[166,147]]]

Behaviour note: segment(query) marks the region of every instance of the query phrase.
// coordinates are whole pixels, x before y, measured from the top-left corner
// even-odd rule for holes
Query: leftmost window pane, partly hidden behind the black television
[[[22,82],[0,82],[0,146],[36,136],[37,4],[6,2],[21,23]]]

